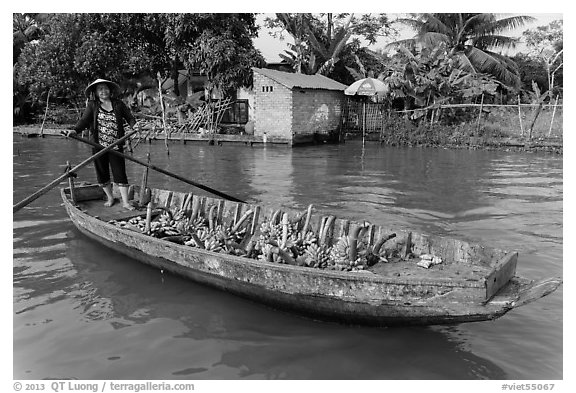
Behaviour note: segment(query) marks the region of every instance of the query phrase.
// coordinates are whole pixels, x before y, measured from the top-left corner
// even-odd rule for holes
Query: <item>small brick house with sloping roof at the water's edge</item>
[[[323,75],[253,71],[254,136],[290,145],[338,139],[346,85]]]

